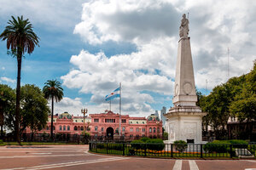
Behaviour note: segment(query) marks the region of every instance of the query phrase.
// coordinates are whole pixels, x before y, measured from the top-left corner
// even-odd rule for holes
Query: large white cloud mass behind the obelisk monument
[[[225,4],[225,5],[224,5]],[[249,71],[255,59],[256,14],[253,1],[149,1],[102,0],[84,3],[81,22],[74,33],[84,42],[131,42],[137,52],[107,57],[103,52],[82,50],[73,55],[74,65],[61,77],[63,85],[102,96],[122,82],[127,111],[152,111],[155,99],[144,90],[171,95],[175,77],[179,20],[189,11],[191,48],[198,88],[213,88],[230,77]],[[221,10],[220,10],[221,8]],[[170,104],[171,105],[171,104]]]

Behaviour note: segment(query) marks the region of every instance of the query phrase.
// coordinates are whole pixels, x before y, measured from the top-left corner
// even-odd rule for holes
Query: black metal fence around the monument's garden
[[[121,156],[233,158],[255,157],[256,144],[129,144],[90,142],[90,151]]]

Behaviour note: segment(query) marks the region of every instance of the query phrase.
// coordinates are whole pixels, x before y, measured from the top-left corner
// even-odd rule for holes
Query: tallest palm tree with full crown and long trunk
[[[4,31],[0,35],[2,41],[7,40],[7,48],[11,48],[11,53],[15,55],[18,62],[18,76],[16,88],[16,110],[15,110],[15,134],[16,140],[20,143],[20,71],[21,59],[27,52],[32,54],[36,45],[38,45],[39,38],[32,30],[32,24],[28,19],[23,20],[23,16],[17,17],[17,20],[12,16],[12,20],[7,23]],[[38,45],[39,46],[39,45]]]

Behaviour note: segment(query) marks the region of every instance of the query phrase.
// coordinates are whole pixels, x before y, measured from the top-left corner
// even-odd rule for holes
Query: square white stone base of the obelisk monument
[[[201,117],[207,113],[201,112],[198,106],[175,106],[166,113],[166,131],[168,140],[172,144],[176,140],[194,140],[195,144],[202,144]]]

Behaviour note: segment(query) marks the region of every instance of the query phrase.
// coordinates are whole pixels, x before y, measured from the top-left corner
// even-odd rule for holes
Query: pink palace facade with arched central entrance
[[[121,115],[121,135],[125,137],[162,137],[162,122],[157,116],[131,117]],[[105,111],[89,116],[73,116],[67,112],[54,116],[54,133],[81,134],[85,131],[91,136],[113,136],[119,134],[119,114]],[[26,133],[31,133],[26,129]],[[50,133],[50,116],[47,126],[38,133]]]

